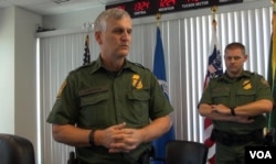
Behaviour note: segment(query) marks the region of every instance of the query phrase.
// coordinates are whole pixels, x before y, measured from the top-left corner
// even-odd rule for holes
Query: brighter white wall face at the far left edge
[[[14,9],[0,9],[0,133],[14,133]]]

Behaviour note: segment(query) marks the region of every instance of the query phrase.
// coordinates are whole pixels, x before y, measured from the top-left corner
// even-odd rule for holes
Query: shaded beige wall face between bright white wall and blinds
[[[31,140],[38,152],[36,116],[36,24],[42,18],[15,8],[14,37],[14,128],[15,134]],[[38,157],[36,157],[38,160]]]

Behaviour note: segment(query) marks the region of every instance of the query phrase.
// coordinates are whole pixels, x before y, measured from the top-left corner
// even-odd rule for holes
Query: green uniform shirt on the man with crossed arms
[[[234,108],[259,99],[273,100],[270,87],[263,76],[245,70],[236,79],[231,79],[226,74],[211,79],[203,91],[200,103],[219,105]],[[213,120],[215,129],[232,134],[245,134],[266,125],[264,114],[255,116],[252,123]]]

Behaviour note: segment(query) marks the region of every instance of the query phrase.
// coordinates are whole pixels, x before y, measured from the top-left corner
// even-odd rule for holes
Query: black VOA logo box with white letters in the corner
[[[276,146],[245,146],[245,164],[275,164]]]

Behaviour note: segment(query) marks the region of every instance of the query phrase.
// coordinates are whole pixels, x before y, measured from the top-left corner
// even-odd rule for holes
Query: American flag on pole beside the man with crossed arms
[[[222,68],[222,57],[221,51],[217,43],[217,35],[216,35],[216,21],[213,20],[213,32],[212,32],[212,40],[211,40],[211,47],[210,47],[210,56],[208,59],[208,70],[204,80],[204,88],[208,86],[208,83],[211,78],[217,77],[219,75],[223,74]],[[208,153],[208,163],[214,164],[214,156],[215,156],[215,142],[211,140],[211,133],[213,130],[212,120],[209,118],[204,118],[204,144],[209,147]]]

